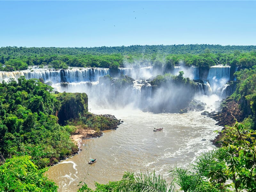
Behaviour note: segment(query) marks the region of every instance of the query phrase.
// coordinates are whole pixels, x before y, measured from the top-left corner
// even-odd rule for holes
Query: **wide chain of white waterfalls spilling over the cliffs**
[[[197,95],[207,97],[215,94],[216,97],[226,98],[234,90],[234,86],[225,85],[230,78],[230,67],[211,67],[207,71],[208,76],[204,81],[199,80],[198,67],[178,66],[174,68],[173,73],[178,75],[179,71],[184,72],[184,77],[196,80],[197,87],[195,91]],[[116,80],[113,83],[108,77],[105,80],[103,78],[99,82],[100,77],[109,75],[108,68],[70,68],[67,70],[37,68],[15,72],[0,72],[0,81],[8,81],[10,78],[17,80],[20,76],[25,76],[26,79],[43,78],[44,82],[52,82],[52,87],[55,91],[85,92],[88,94],[89,100],[92,100],[92,103],[97,105],[114,108],[132,105],[143,109],[148,108],[151,111],[155,110],[160,104],[161,109],[164,109],[166,106],[172,109],[171,105],[177,105],[176,107],[178,108],[179,100],[188,97],[192,92],[195,93],[194,90],[188,91],[173,85],[168,89],[151,86],[148,80],[145,79],[150,79],[150,77],[159,74],[163,75],[163,73],[159,73],[159,70],[153,67],[119,68],[117,72],[119,75],[131,76],[136,80],[133,81],[132,85],[124,83],[124,86],[122,81]]]

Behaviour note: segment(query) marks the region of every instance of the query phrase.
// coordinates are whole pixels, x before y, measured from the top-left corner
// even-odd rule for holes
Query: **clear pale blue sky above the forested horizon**
[[[0,47],[256,45],[256,1],[1,1]]]

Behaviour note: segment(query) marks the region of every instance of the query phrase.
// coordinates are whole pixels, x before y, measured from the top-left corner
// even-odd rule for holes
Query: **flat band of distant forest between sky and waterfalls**
[[[217,64],[252,67],[256,46],[132,45],[129,47],[56,48],[1,47],[0,70],[15,71],[38,65],[50,68],[124,66],[165,66],[180,62],[186,66],[209,67]]]

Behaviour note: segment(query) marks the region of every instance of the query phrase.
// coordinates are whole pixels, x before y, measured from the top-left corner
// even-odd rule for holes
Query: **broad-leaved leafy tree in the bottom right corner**
[[[255,131],[236,123],[234,127],[226,127],[225,135],[221,140],[228,154],[224,159],[227,163],[228,177],[233,181],[236,191],[256,190],[255,136]]]

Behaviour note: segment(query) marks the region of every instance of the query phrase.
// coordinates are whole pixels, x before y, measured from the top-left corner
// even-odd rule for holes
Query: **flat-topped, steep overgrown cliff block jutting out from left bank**
[[[86,93],[61,93],[57,97],[61,102],[58,113],[59,124],[65,125],[65,121],[78,118],[88,112],[88,97]]]

